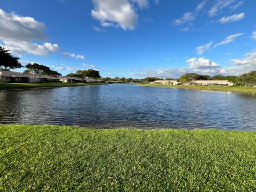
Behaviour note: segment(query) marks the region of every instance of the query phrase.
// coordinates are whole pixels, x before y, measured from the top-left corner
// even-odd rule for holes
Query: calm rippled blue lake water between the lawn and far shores
[[[256,95],[98,85],[0,92],[0,123],[256,131]]]

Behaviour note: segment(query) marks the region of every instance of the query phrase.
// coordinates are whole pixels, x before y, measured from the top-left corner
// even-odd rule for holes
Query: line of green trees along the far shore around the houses
[[[14,57],[4,47],[0,46],[0,70],[10,71],[24,67],[19,62],[19,57]],[[40,75],[49,75],[52,77],[59,77],[61,74],[58,71],[53,71],[49,67],[40,65],[39,63],[29,63],[25,66],[27,69],[25,74],[29,74],[32,78],[39,78]],[[79,77],[85,81],[86,78],[102,79],[103,81],[118,81],[118,82],[133,82],[133,83],[151,83],[156,80],[163,80],[159,77],[146,77],[143,79],[132,79],[125,77],[101,77],[99,71],[88,69],[78,70],[76,73],[70,73],[69,77]],[[166,78],[166,80],[173,80],[172,78]],[[209,75],[201,75],[197,73],[186,73],[182,75],[177,81],[186,83],[193,80],[228,80],[234,83],[236,86],[256,86],[256,71],[250,71],[249,73],[242,74],[241,76],[222,76],[215,75],[210,77]]]

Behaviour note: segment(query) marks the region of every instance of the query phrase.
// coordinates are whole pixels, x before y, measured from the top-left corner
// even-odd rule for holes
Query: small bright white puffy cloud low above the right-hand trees
[[[186,60],[187,63],[189,63],[190,68],[198,68],[198,69],[202,69],[202,68],[215,68],[215,67],[220,67],[220,65],[218,65],[215,62],[210,61],[209,59],[205,59],[204,57],[201,58],[191,58]]]

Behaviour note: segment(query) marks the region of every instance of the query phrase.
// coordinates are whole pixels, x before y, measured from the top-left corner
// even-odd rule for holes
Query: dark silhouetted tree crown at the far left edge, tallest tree
[[[0,70],[9,71],[10,69],[23,67],[19,62],[20,58],[14,57],[9,51],[0,46]]]

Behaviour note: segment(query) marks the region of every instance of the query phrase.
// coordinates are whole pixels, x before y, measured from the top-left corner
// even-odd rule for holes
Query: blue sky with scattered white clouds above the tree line
[[[62,75],[256,70],[254,0],[0,0],[0,9],[0,45]]]

